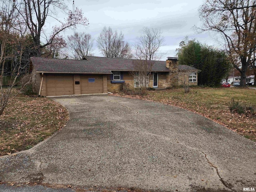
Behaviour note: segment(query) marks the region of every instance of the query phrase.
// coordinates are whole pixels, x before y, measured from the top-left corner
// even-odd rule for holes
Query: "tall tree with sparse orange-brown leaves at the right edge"
[[[230,61],[241,74],[240,86],[246,86],[246,71],[255,61],[255,5],[255,0],[206,0],[199,9],[200,31],[221,35]]]

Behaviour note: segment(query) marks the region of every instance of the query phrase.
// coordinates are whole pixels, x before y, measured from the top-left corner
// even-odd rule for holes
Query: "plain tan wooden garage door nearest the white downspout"
[[[47,74],[46,96],[73,95],[73,75]]]

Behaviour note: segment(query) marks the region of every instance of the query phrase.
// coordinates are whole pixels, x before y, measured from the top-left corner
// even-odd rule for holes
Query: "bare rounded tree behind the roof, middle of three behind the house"
[[[98,48],[105,57],[132,58],[132,50],[128,42],[124,42],[124,34],[112,28],[104,27],[97,39]]]

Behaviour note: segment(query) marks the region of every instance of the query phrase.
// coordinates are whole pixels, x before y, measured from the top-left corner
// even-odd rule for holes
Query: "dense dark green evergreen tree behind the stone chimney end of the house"
[[[221,50],[203,45],[196,40],[188,40],[188,37],[180,43],[177,52],[179,64],[201,70],[198,74],[198,85],[218,86],[231,68],[230,62]]]

